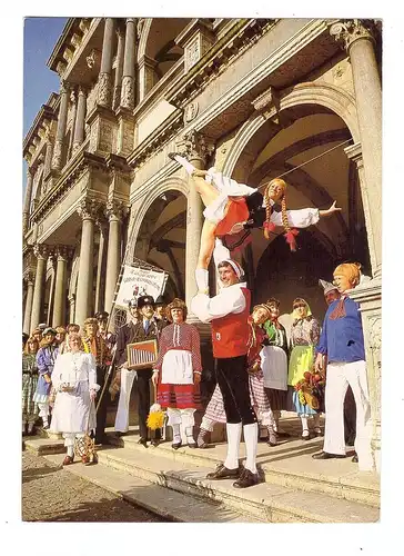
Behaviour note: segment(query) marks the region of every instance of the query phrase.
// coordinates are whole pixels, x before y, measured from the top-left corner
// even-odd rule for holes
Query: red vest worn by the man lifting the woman
[[[241,288],[245,297],[245,309],[243,312],[230,312],[225,317],[212,320],[213,356],[216,359],[239,357],[249,350],[248,341],[250,327],[248,318],[250,315],[251,294],[246,288]]]

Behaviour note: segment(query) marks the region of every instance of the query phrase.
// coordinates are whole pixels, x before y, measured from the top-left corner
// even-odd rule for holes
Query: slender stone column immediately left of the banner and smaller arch
[[[121,226],[125,207],[119,201],[108,201],[107,217],[109,219],[107,280],[104,309],[110,312],[121,268]]]

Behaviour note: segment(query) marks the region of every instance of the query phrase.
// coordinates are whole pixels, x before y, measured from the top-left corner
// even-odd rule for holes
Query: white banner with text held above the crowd
[[[155,300],[163,294],[166,278],[168,275],[163,271],[124,265],[115,307],[127,309],[129,300],[140,296],[153,296]]]

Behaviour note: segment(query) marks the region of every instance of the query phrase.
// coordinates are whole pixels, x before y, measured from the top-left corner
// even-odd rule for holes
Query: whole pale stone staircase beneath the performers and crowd
[[[293,433],[294,424],[289,425]],[[65,469],[172,520],[374,523],[380,518],[377,475],[357,471],[351,458],[312,459],[322,438],[304,441],[291,436],[275,447],[259,443],[263,481],[239,490],[232,480],[205,478],[224,460],[224,443],[204,450],[181,447],[175,451],[171,441],[147,449],[138,445],[135,428],[120,438],[109,431],[108,437],[110,446],[99,450],[99,465],[77,463]],[[59,439],[27,439],[26,447],[57,464],[63,459]],[[244,444],[242,459],[243,455]]]

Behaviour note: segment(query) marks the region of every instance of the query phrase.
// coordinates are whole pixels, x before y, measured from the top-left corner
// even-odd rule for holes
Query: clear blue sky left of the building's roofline
[[[47,61],[67,21],[68,18],[23,20],[23,138],[50,93],[59,91],[59,76],[48,68]],[[22,181],[26,189],[26,160],[22,163]]]

